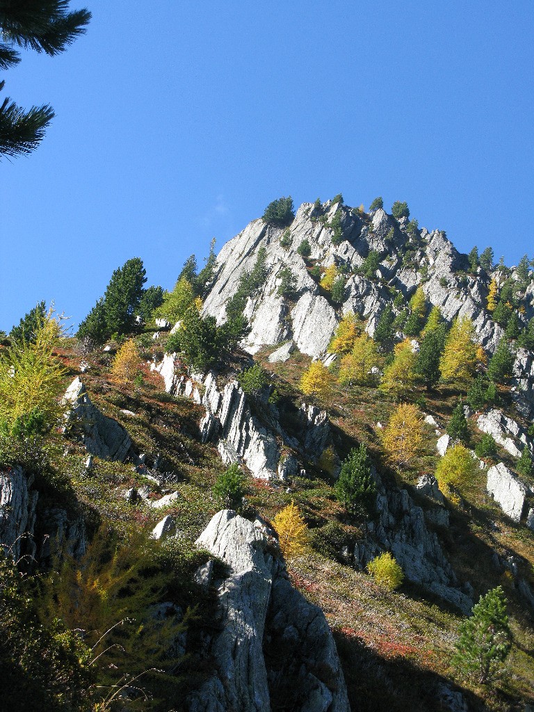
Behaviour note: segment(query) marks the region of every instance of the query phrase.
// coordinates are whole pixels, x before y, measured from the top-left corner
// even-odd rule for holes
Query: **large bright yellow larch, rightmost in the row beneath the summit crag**
[[[456,318],[446,337],[439,361],[441,378],[445,382],[466,384],[476,369],[478,343],[471,319]]]

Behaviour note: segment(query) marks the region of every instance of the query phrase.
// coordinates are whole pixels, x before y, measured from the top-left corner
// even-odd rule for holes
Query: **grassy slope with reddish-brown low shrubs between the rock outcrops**
[[[71,367],[70,376],[78,373],[80,357],[73,352],[74,342],[63,344],[63,359]],[[145,357],[155,350],[149,347]],[[110,356],[88,359],[90,370],[83,375],[91,399],[105,412],[121,422],[132,436],[138,452],[147,453],[150,465],[157,453],[164,457],[160,467],[169,473],[172,483],[167,489],[180,493],[179,501],[164,511],[152,511],[145,504],[131,506],[122,493],[131,486],[148,485],[157,498],[161,489],[136,473],[131,464],[97,461],[90,476],[80,466],[83,448],[73,442],[65,463],[73,476],[78,498],[98,511],[101,518],[111,518],[125,535],[135,528],[150,528],[165,513],[177,517],[184,545],[190,546],[223,503],[211,493],[216,476],[224,467],[212,445],[201,445],[197,424],[203,413],[200,407],[184,399],[174,399],[162,390],[162,379],[144,369],[141,387],[112,382],[108,372]],[[258,355],[276,381],[281,394],[281,409],[286,401],[300,402],[298,380],[309,359],[295,355],[286,364],[269,365],[265,354]],[[426,412],[446,424],[457,402],[452,392],[426,395]],[[379,467],[382,461],[376,424],[387,422],[394,403],[376,389],[340,389],[329,404],[336,446],[345,454],[355,441],[364,441]],[[121,409],[134,412],[125,415]],[[473,429],[474,432],[474,429]],[[436,436],[429,428],[424,455],[407,471],[392,473],[407,485],[419,474],[433,471]],[[502,454],[502,453],[501,453]],[[504,458],[503,458],[504,459]],[[390,471],[391,472],[391,471]],[[272,518],[289,501],[294,500],[313,527],[327,521],[344,522],[344,513],[335,501],[328,476],[316,468],[308,471],[308,480],[296,478],[286,487],[261,481],[247,483],[248,508],[255,508]],[[400,592],[387,594],[379,590],[365,572],[325,558],[314,550],[290,562],[290,575],[295,585],[313,602],[323,607],[335,631],[342,656],[352,706],[360,710],[394,711],[397,709],[440,709],[434,686],[440,680],[464,687],[472,709],[486,703],[492,710],[522,709],[520,700],[534,701],[534,630],[532,618],[515,591],[513,577],[501,574],[491,564],[495,550],[501,555],[515,555],[521,574],[533,580],[534,535],[522,526],[513,525],[485,494],[484,475],[480,474],[460,506],[450,505],[451,527],[440,532],[446,554],[459,575],[469,580],[476,596],[488,588],[503,585],[510,601],[514,646],[508,659],[509,674],[496,691],[478,689],[460,681],[449,664],[453,651],[459,614],[417,587],[404,585]],[[345,526],[352,535],[359,533],[357,521]]]

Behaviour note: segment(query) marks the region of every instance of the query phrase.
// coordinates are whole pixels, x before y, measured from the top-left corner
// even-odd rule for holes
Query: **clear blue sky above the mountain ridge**
[[[0,329],[41,299],[77,325],[130,257],[172,288],[288,194],[533,256],[532,0],[83,5],[85,36],[4,76],[57,116],[0,163]]]

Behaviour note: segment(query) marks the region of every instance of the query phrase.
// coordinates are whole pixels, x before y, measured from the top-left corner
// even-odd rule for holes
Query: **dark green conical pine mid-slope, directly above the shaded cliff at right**
[[[363,443],[352,448],[343,461],[335,493],[338,501],[352,514],[374,511],[377,486],[372,478],[367,448]]]

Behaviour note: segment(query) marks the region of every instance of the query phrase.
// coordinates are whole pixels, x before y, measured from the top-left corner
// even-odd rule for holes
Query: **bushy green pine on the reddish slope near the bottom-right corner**
[[[501,671],[510,649],[506,597],[498,586],[481,596],[471,617],[461,623],[453,662],[462,674],[486,685]]]

